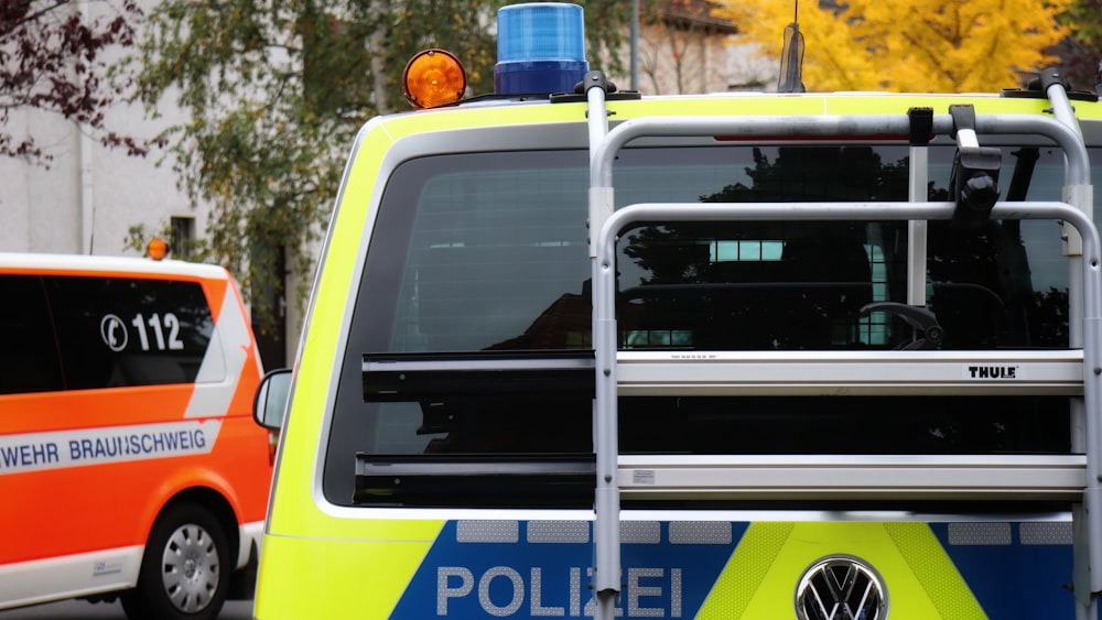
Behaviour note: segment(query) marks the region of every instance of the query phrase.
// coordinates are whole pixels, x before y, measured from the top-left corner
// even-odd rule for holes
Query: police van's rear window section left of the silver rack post
[[[396,172],[341,369],[324,474],[331,501],[357,492],[357,453],[592,454],[590,399],[365,402],[363,379],[367,352],[587,349],[586,161],[584,152],[487,153]]]

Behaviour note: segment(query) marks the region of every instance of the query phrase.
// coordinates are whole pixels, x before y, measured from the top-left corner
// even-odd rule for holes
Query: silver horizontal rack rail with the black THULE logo
[[[1082,395],[1080,350],[620,351],[622,396]]]

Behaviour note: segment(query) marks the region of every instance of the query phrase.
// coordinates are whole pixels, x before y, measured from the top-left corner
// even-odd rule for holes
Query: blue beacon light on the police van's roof
[[[496,93],[573,93],[587,70],[585,25],[580,6],[528,2],[498,10]]]

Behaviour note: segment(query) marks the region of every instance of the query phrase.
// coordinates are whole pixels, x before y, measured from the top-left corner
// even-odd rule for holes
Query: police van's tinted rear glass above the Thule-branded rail
[[[1005,149],[1003,177],[1020,150]],[[617,205],[638,202],[906,200],[905,146],[629,149]],[[1027,194],[1059,199],[1062,154],[1039,149]],[[1030,151],[1031,152],[1031,151]],[[954,150],[931,148],[931,200],[948,199]],[[402,165],[388,184],[357,322],[364,351],[590,347],[583,153],[487,153]],[[1012,195],[1013,194],[1013,195]],[[1055,194],[1055,195],[1054,195]],[[1068,265],[1051,221],[929,225],[928,305],[944,349],[1068,346]],[[624,348],[905,346],[905,222],[655,225],[622,236]],[[401,265],[395,269],[395,265]],[[380,303],[380,301],[382,303]],[[733,326],[739,326],[734,329]],[[368,345],[368,342],[364,342]]]

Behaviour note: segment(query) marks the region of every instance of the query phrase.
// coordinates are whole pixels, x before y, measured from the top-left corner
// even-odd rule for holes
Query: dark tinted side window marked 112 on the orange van
[[[0,394],[193,383],[214,320],[197,282],[0,275]]]

